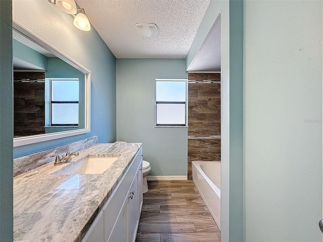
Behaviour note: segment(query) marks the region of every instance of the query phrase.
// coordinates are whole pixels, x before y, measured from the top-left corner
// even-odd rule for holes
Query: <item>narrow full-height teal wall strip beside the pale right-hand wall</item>
[[[230,173],[229,241],[244,241],[243,157],[243,0],[229,2],[230,18]]]

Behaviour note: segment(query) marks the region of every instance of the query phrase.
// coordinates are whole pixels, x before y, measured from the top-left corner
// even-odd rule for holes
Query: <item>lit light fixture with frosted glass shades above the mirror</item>
[[[90,22],[85,15],[84,9],[77,9],[75,0],[47,0],[51,4],[55,4],[60,10],[74,17],[73,24],[80,30],[89,31],[91,29]]]

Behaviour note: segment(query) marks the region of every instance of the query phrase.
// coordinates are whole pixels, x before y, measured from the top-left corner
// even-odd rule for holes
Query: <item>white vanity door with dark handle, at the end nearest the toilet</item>
[[[138,173],[141,172],[141,167],[138,167],[136,175],[132,181],[131,187],[129,189],[129,198],[128,198],[128,241],[135,241],[137,234],[137,224],[138,224]]]

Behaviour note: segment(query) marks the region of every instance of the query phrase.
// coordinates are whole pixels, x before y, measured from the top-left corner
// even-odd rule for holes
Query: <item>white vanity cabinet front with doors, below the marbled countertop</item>
[[[141,207],[142,148],[137,152],[82,242],[134,242]]]

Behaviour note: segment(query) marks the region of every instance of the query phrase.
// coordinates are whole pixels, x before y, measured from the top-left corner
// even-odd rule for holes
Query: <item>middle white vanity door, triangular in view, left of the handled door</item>
[[[116,224],[112,229],[109,239],[109,242],[126,242],[127,234],[127,206],[128,206],[128,197],[125,199],[119,216],[117,218]]]

